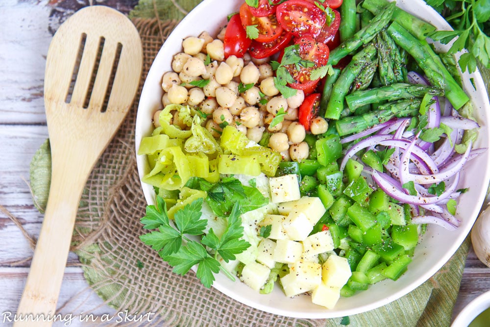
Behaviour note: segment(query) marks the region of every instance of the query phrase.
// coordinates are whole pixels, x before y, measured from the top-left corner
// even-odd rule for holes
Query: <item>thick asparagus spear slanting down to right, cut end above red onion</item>
[[[431,49],[427,41],[419,41],[396,22],[388,27],[388,34],[397,45],[405,49],[424,71],[432,85],[444,90],[445,97],[458,110],[468,100],[461,86],[447,71],[439,56]]]

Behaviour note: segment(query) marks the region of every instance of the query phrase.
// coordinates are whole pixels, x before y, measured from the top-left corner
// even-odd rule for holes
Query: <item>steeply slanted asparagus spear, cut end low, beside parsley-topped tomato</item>
[[[345,95],[349,92],[350,85],[361,70],[369,64],[376,55],[376,48],[369,44],[366,48],[356,53],[351,62],[342,70],[337,82],[335,82],[330,100],[325,111],[325,118],[339,119],[343,110]]]

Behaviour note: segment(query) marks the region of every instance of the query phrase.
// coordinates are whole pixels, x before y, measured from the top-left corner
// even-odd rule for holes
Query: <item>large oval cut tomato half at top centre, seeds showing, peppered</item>
[[[296,36],[315,37],[325,25],[325,13],[312,2],[289,0],[277,6],[277,21]]]

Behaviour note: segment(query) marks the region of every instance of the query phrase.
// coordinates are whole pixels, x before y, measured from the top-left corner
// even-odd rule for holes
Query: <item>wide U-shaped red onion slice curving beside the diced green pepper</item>
[[[385,173],[379,173],[377,171],[372,172],[372,179],[378,184],[378,186],[386,192],[393,199],[402,201],[404,203],[411,204],[437,204],[442,200],[447,199],[455,190],[459,182],[459,173],[456,174],[454,181],[446,188],[446,190],[440,196],[433,197],[423,197],[423,196],[413,196],[405,194],[403,190],[400,190],[395,185],[392,185],[389,177]],[[391,178],[391,177],[390,177]]]

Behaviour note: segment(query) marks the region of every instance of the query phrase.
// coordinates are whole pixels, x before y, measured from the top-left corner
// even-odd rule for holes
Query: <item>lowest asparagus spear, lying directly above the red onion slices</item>
[[[340,136],[359,133],[376,124],[387,122],[393,117],[415,116],[418,114],[420,103],[419,99],[389,102],[380,105],[378,110],[340,119],[335,122],[335,127]]]

